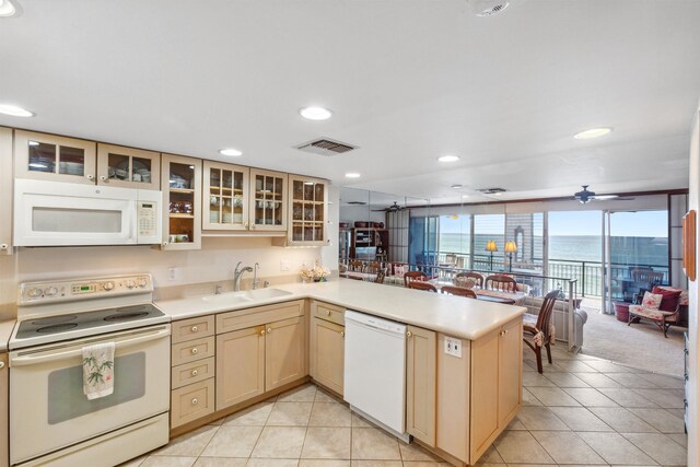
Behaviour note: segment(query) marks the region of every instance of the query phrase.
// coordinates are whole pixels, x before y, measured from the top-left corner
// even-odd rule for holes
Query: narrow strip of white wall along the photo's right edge
[[[700,211],[700,108],[696,112],[692,122],[692,138],[690,142],[690,183],[688,191],[688,209]],[[700,217],[696,217],[700,219]],[[696,225],[696,232],[700,232],[700,222]],[[700,260],[700,244],[696,240],[696,265]],[[697,267],[697,266],[696,266]],[[688,395],[688,465],[700,465],[700,384],[698,383],[698,374],[700,373],[700,320],[698,319],[698,304],[700,296],[698,293],[698,279],[689,281],[688,294],[690,303],[688,306],[688,334],[690,339],[690,367],[689,367],[689,395]]]

